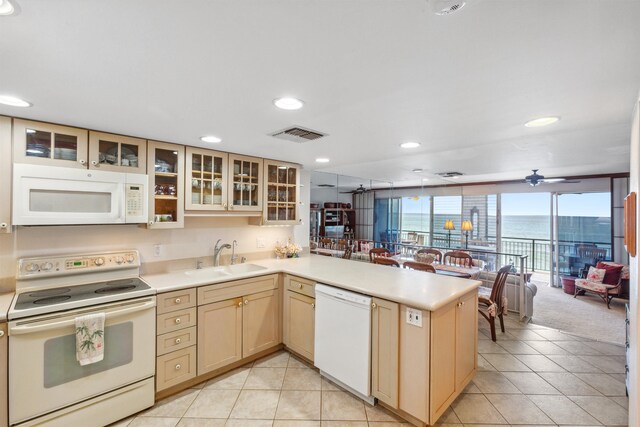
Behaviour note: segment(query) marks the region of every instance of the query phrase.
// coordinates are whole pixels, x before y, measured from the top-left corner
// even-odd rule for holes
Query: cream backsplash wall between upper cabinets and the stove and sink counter
[[[308,213],[302,218],[308,218]],[[295,241],[295,237],[301,235],[307,238],[297,243],[308,246],[308,223],[305,224],[260,227],[249,225],[246,217],[195,217],[185,219],[185,228],[173,230],[149,230],[136,225],[20,227],[13,234],[0,235],[0,291],[13,290],[18,258],[137,249],[143,263],[193,259],[188,265],[195,266],[194,258],[211,260],[217,239],[225,243],[237,240],[240,256],[272,257],[277,241]],[[298,231],[302,229],[304,232]],[[258,239],[264,241],[264,248],[258,248]],[[156,245],[159,256],[155,255]],[[224,252],[230,255],[230,251]]]

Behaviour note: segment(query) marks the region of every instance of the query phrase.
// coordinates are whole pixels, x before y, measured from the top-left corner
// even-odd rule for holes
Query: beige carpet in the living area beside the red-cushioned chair
[[[538,287],[533,299],[532,323],[598,341],[624,344],[627,300],[614,298],[611,309],[607,309],[596,295],[573,298],[562,288],[550,287],[548,274],[536,273],[531,281]]]

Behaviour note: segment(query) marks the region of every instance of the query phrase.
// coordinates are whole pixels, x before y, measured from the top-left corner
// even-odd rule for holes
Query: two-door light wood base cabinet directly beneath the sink
[[[200,288],[198,301],[216,301],[198,306],[198,375],[280,344],[278,275]]]

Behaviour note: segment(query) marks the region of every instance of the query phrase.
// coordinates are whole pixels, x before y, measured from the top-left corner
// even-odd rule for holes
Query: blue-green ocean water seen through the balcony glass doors
[[[460,215],[436,214],[433,229],[436,233],[445,234],[444,222],[452,219],[456,231],[460,234]],[[502,217],[502,237],[520,237],[526,239],[549,239],[549,217],[545,215],[505,215]],[[489,235],[495,236],[496,219],[489,217]],[[429,215],[406,213],[402,215],[402,229],[413,231],[429,231]],[[571,242],[611,242],[611,218],[608,217],[564,217],[558,218],[560,240]]]

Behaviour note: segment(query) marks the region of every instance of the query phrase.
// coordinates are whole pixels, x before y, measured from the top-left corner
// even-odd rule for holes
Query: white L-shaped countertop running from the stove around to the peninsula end
[[[252,261],[265,267],[259,271],[210,278],[215,268],[176,271],[142,276],[157,292],[246,279],[272,273],[287,273],[362,294],[434,311],[476,289],[478,280],[459,279],[424,271],[349,261],[320,255],[291,259]],[[241,264],[242,265],[242,264]]]

